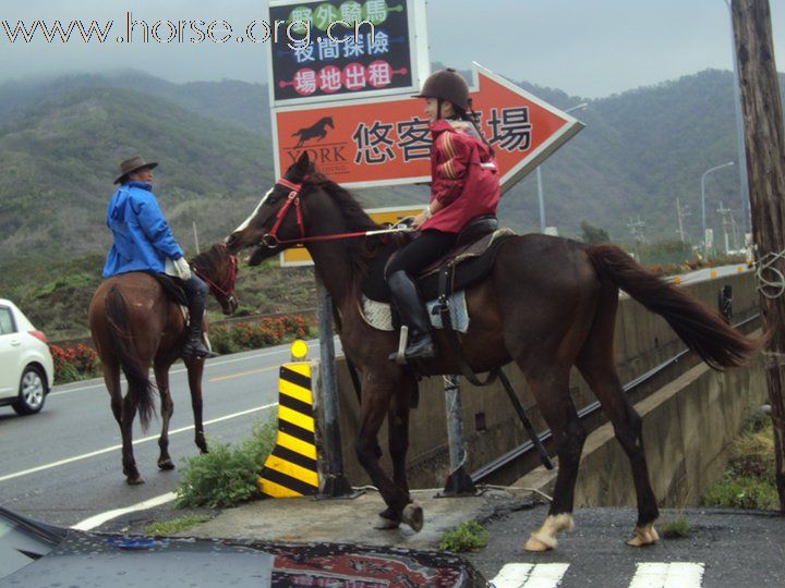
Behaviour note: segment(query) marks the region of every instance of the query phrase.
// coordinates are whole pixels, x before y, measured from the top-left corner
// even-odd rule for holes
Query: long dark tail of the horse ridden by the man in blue
[[[128,330],[128,306],[117,285],[109,289],[105,305],[109,336],[129,382],[129,394],[138,409],[142,428],[146,431],[150,415],[155,413],[153,382],[140,364],[138,354]]]

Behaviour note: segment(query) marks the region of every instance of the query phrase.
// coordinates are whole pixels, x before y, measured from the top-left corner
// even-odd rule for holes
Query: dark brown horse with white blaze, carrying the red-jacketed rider
[[[305,244],[340,313],[343,352],[361,375],[362,422],[355,450],[387,504],[377,527],[391,528],[404,522],[419,530],[422,509],[412,503],[406,478],[409,402],[416,389],[415,373],[388,359],[397,348],[397,335],[367,326],[358,304],[363,271],[382,240],[328,236],[374,229],[378,226],[353,197],[315,173],[303,156],[228,237],[227,245],[237,252],[261,244],[250,257],[250,264],[256,265],[294,242]],[[557,531],[572,526],[575,482],[587,436],[569,394],[572,366],[602,403],[630,460],[638,498],[638,522],[630,544],[657,540],[653,524],[659,511],[649,481],[641,419],[629,404],[614,365],[619,289],[663,316],[712,367],[739,366],[760,344],[645,271],[616,246],[589,246],[540,234],[514,236],[502,244],[490,277],[467,290],[471,321],[469,332],[460,339],[476,372],[515,362],[553,431],[559,463],[554,499],[545,523],[526,544],[529,550],[555,547]],[[416,371],[425,376],[459,373],[457,357],[443,332],[437,332],[435,340],[439,353],[419,363]],[[376,436],[385,416],[391,479],[378,463]]]

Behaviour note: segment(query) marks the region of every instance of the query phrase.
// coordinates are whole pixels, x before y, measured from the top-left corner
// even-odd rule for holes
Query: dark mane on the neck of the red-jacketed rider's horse
[[[355,231],[385,229],[385,226],[375,223],[373,219],[369,217],[362,205],[348,189],[336,184],[326,175],[317,171],[312,171],[307,184],[326,192],[338,205],[347,224],[347,232],[353,233]],[[346,240],[345,243],[352,269],[354,270],[352,273],[357,280],[367,273],[369,264],[376,257],[379,249],[387,244],[387,237],[386,235],[379,235],[366,238],[349,238]]]

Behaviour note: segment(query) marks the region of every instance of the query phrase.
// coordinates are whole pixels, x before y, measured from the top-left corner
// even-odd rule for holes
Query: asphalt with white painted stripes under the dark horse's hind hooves
[[[689,509],[684,539],[663,538],[630,548],[632,509],[579,509],[575,530],[560,534],[556,550],[528,553],[522,546],[543,520],[545,506],[524,509],[486,524],[487,548],[467,555],[502,587],[765,588],[785,586],[785,519],[775,513]],[[662,525],[661,525],[662,532]],[[510,581],[499,573],[507,566]]]

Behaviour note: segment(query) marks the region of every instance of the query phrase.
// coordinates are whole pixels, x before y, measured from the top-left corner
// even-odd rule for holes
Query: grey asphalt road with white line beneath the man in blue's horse
[[[310,357],[318,357],[310,342]],[[289,346],[209,359],[203,379],[205,432],[230,442],[249,437],[255,420],[277,411],[277,376],[289,360]],[[193,413],[182,364],[170,371],[174,415],[169,452],[176,465],[198,454]],[[156,402],[156,406],[158,403]],[[43,522],[72,526],[98,513],[171,492],[178,470],[159,471],[160,421],[134,428],[134,456],[146,483],[129,487],[122,474],[120,429],[102,379],[58,385],[41,413],[19,417],[0,408],[0,504]]]

